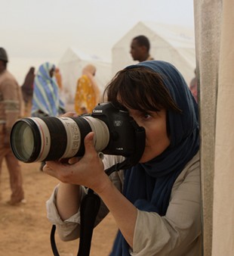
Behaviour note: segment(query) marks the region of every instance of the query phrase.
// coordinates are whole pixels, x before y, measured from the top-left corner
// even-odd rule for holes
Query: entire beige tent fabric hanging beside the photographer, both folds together
[[[199,76],[203,254],[234,251],[233,2],[194,1]]]

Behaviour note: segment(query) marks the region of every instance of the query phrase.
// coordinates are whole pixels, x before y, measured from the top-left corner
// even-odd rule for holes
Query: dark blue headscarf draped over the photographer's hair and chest
[[[183,76],[165,61],[144,61],[127,69],[144,67],[159,73],[178,108],[168,111],[170,146],[161,155],[125,171],[124,195],[141,211],[166,214],[171,189],[185,165],[199,151],[198,105]],[[155,85],[156,86],[156,85]],[[113,255],[130,255],[129,245],[118,233]]]

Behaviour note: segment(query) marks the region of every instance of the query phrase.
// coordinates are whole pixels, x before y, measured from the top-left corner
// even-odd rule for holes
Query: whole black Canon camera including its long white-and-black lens
[[[92,114],[79,117],[20,119],[11,130],[11,149],[26,163],[82,156],[85,136],[93,131],[97,151],[128,158],[137,151],[139,130],[143,128],[122,105],[106,102],[98,104]]]

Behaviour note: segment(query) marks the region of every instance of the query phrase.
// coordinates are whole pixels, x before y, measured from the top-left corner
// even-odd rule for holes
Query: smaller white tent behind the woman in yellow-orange
[[[82,75],[83,67],[87,64],[94,64],[97,68],[95,79],[101,92],[109,82],[111,64],[108,61],[104,61],[96,55],[87,55],[75,48],[68,48],[57,64],[63,79],[62,97],[66,104],[73,104],[77,80]]]

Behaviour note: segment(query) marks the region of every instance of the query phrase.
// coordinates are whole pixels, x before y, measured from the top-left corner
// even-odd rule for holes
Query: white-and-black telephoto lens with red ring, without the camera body
[[[82,156],[85,136],[94,132],[94,147],[102,151],[109,143],[109,130],[102,120],[84,117],[29,117],[11,130],[11,149],[20,161],[50,161]]]

